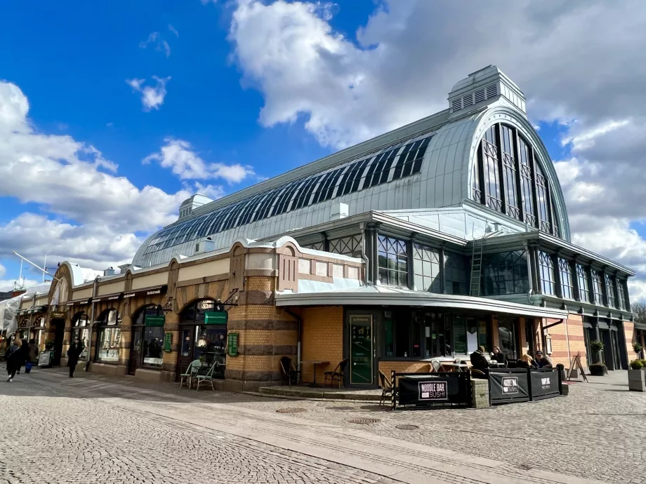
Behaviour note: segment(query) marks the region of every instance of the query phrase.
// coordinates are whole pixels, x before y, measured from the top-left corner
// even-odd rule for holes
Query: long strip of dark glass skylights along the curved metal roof
[[[322,173],[187,217],[157,232],[143,255],[419,173],[433,134],[418,135]]]

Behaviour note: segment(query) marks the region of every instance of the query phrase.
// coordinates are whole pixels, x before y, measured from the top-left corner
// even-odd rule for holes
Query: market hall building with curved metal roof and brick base
[[[497,346],[510,360],[628,368],[633,270],[570,241],[553,163],[525,96],[494,66],[448,107],[211,201],[197,194],[130,266],[78,281],[60,265],[44,332],[65,363],[74,337],[91,371],[176,381],[218,362],[221,388],[303,380],[348,360],[347,386]],[[40,302],[39,302],[40,304]],[[79,364],[84,364],[83,361]],[[388,373],[387,373],[388,374]]]

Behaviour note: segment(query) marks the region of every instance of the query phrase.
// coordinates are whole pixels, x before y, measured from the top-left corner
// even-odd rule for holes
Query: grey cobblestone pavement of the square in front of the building
[[[642,444],[635,437],[646,431],[646,396],[624,391],[621,384],[575,384],[567,398],[491,410],[393,413],[376,403],[197,394],[176,385],[79,376],[69,380],[60,370],[39,370],[20,375],[13,384],[0,382],[5,415],[0,482],[117,483],[126,476],[126,482],[147,483],[393,483],[400,482],[397,476],[378,466],[357,469],[352,459],[319,459],[308,449],[316,444],[333,455],[343,441],[353,446],[353,458],[368,459],[369,449],[381,452],[381,462],[392,466],[397,459],[389,457],[404,458],[397,455],[402,449],[394,446],[395,439],[409,445],[408,467],[428,473],[423,482],[565,482],[541,474],[551,471],[642,483],[646,474]],[[286,407],[305,411],[275,412]],[[357,417],[379,421],[348,422]],[[219,427],[206,428],[206,421],[217,421]],[[402,424],[418,428],[397,429]],[[234,427],[237,435],[228,430]],[[264,441],[254,436],[260,430]],[[289,445],[281,444],[285,436]],[[430,448],[420,444],[476,457],[460,462],[447,451],[446,466],[424,464]],[[495,479],[473,478],[492,469]]]

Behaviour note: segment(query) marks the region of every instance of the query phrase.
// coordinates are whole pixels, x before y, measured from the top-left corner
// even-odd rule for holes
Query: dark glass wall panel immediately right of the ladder
[[[486,296],[529,292],[529,272],[525,250],[484,254],[482,286]]]

